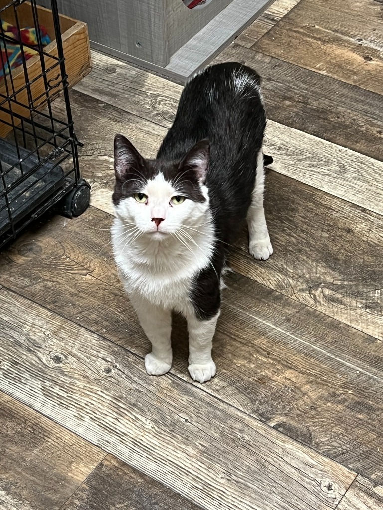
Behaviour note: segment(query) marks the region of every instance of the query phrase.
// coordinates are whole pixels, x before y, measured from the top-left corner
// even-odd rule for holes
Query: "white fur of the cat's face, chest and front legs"
[[[171,367],[171,311],[176,310],[188,321],[189,372],[204,382],[216,373],[211,340],[218,315],[199,320],[189,299],[194,278],[210,264],[214,246],[207,188],[201,188],[205,202],[186,199],[172,205],[175,189],[158,174],[142,189],[147,203],[130,197],[115,208],[112,244],[124,288],[152,343],[147,372],[160,375]],[[152,218],[163,218],[158,231]]]

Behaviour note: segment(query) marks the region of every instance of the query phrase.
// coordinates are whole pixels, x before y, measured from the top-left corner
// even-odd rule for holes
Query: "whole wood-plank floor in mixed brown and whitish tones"
[[[178,319],[146,374],[109,244],[113,136],[154,156],[182,87],[93,53],[92,206],[0,260],[2,510],[382,510],[382,50],[381,0],[277,0],[216,59],[264,77],[274,254],[233,250],[203,386]]]

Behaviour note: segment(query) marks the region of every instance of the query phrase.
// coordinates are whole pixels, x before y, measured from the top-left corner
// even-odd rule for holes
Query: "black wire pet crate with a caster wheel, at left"
[[[78,216],[89,205],[56,0],[50,7],[0,0],[0,248],[53,206]]]

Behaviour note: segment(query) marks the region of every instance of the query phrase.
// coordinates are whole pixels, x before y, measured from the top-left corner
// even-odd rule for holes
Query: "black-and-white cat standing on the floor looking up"
[[[233,62],[187,82],[155,160],[115,137],[112,246],[152,343],[148,374],[171,368],[172,311],[187,320],[190,376],[205,382],[216,374],[222,277],[246,218],[252,256],[267,260],[273,252],[263,204],[264,164],[273,161],[262,152],[265,127],[260,77]]]

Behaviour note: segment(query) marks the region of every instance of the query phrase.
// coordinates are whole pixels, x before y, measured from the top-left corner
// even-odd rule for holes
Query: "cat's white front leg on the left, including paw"
[[[152,344],[152,352],[145,356],[149,375],[162,375],[172,366],[172,315],[143,298],[131,298],[139,323]]]

